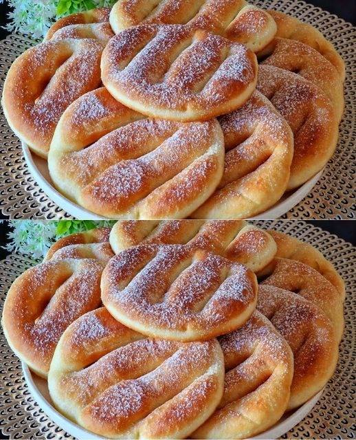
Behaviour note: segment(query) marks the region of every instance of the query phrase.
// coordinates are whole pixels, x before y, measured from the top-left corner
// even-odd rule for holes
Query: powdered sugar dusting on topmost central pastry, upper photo
[[[118,69],[118,63],[130,58],[130,41],[137,29],[115,36],[104,51],[107,63],[104,83],[120,89],[131,100],[170,110],[206,109],[230,99],[231,87],[239,94],[256,77],[255,61],[246,48],[220,36],[207,34],[194,41],[192,28],[179,25],[142,25],[140,30],[145,45],[143,48],[141,45],[138,54],[133,53],[134,58],[124,69]],[[190,47],[170,66],[168,54],[187,41]],[[137,43],[134,47],[137,51]],[[228,59],[221,65],[223,53]],[[215,87],[218,83],[219,94]],[[199,93],[201,89],[203,93]]]

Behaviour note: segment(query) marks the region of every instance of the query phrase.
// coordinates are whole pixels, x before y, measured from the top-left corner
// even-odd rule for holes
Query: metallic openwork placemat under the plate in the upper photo
[[[285,218],[350,219],[355,217],[355,47],[356,30],[351,23],[304,1],[252,0],[263,8],[281,10],[311,23],[331,40],[346,62],[346,110],[340,125],[335,155],[318,184]],[[0,93],[3,80],[16,56],[33,41],[17,34],[0,41]],[[12,133],[0,111],[0,212],[10,218],[53,219],[70,217],[45,195],[30,175],[21,142]]]

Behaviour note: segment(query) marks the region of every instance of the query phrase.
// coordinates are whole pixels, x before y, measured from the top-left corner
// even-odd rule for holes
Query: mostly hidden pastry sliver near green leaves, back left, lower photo
[[[63,236],[63,238],[57,240],[56,243],[49,248],[44,261],[52,259],[52,256],[54,256],[56,252],[69,246],[108,243],[110,232],[111,228],[95,228],[89,231]]]

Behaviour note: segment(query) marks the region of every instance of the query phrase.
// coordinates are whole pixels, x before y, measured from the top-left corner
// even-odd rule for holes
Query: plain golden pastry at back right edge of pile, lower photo
[[[269,230],[268,233],[276,243],[276,258],[296,260],[313,267],[313,269],[318,271],[336,287],[340,293],[341,300],[344,301],[344,280],[320,251],[315,249],[311,244],[300,241],[288,234],[283,234],[283,232]],[[274,262],[272,261],[264,270],[260,271],[258,275],[265,276],[266,274],[271,274],[273,267]]]

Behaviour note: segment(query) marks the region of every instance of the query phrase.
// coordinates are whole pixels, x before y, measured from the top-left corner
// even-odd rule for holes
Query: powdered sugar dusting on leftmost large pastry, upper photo
[[[16,100],[23,120],[46,140],[43,143],[52,139],[69,104],[100,84],[101,53],[102,45],[93,40],[60,40],[47,41],[23,54],[22,69],[26,70],[27,79],[16,78],[21,80]],[[43,67],[47,67],[48,78],[41,74]],[[42,78],[41,83],[38,78]],[[48,84],[43,89],[46,79]]]

